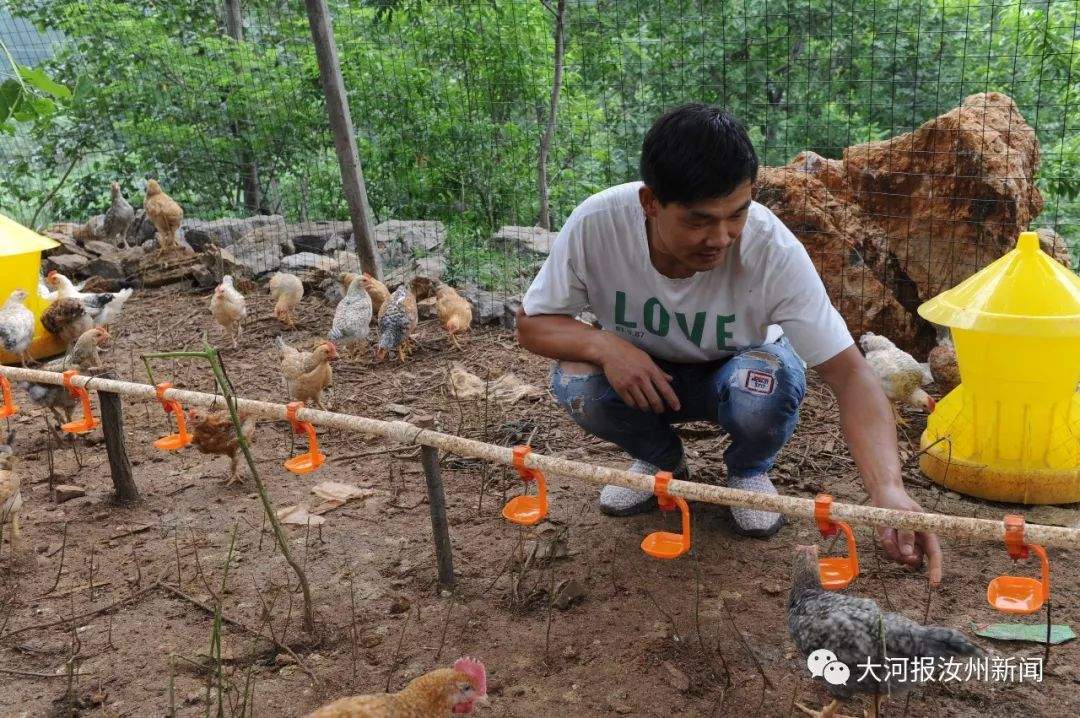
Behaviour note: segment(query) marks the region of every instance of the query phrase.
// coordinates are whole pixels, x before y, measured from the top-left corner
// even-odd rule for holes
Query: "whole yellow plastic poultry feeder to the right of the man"
[[[961,380],[927,421],[922,472],[993,501],[1080,501],[1080,277],[1023,232],[919,314],[951,328]]]

